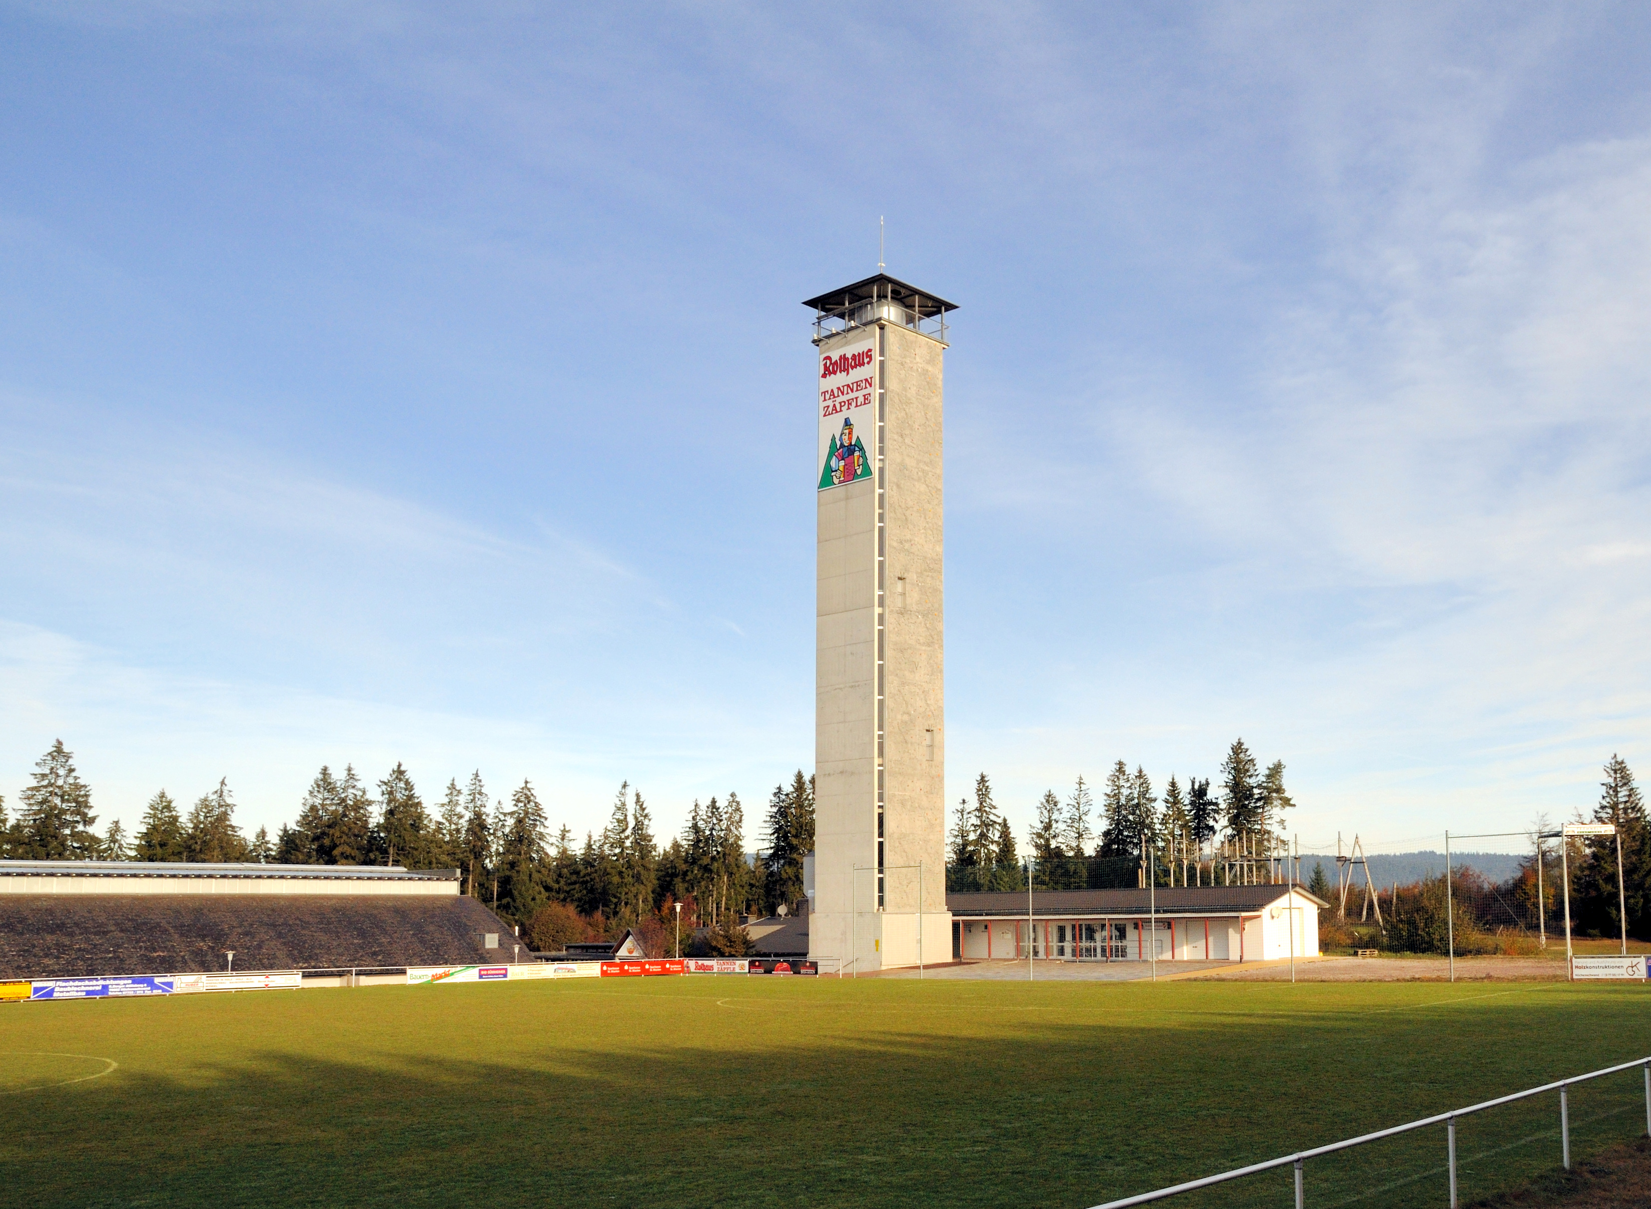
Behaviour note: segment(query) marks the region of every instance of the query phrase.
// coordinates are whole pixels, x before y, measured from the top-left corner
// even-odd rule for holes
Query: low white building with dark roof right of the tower
[[[951,955],[963,961],[1273,961],[1317,956],[1319,910],[1299,885],[1149,890],[953,890]]]

